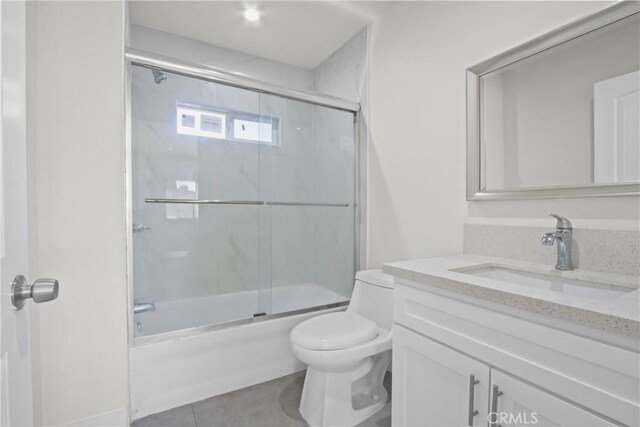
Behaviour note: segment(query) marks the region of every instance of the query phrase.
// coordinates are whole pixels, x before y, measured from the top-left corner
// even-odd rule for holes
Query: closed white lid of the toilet
[[[311,350],[339,350],[371,341],[377,335],[375,322],[343,311],[305,320],[291,331],[291,342]]]

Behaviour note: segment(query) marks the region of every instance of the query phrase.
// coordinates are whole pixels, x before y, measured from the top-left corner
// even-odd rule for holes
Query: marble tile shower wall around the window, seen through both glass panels
[[[176,101],[278,117],[282,145],[178,135]],[[157,85],[149,70],[134,67],[132,122],[134,223],[151,227],[134,234],[137,301],[309,282],[350,292],[350,114],[176,75]],[[183,181],[187,193],[176,189],[176,181]],[[144,203],[152,197],[349,203],[350,208]]]

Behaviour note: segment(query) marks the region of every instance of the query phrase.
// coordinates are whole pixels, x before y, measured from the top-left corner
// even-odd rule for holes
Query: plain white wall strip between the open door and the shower
[[[28,7],[31,261],[60,281],[39,307],[34,393],[36,419],[53,426],[128,400],[124,5]]]

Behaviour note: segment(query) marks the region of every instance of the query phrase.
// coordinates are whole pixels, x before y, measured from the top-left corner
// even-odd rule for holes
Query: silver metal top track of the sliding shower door
[[[166,56],[138,49],[126,48],[125,59],[130,61],[133,65],[139,65],[152,70],[166,71],[187,77],[194,77],[200,80],[222,83],[228,86],[276,95],[296,101],[321,105],[323,107],[350,111],[355,114],[360,111],[360,104],[357,102],[314,92],[291,89],[273,83],[267,83],[261,80],[241,76],[239,74],[230,73],[216,67],[180,61],[175,58],[168,58]]]

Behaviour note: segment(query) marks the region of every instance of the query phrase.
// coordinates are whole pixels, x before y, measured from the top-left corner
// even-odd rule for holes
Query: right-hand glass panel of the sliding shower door
[[[261,289],[270,314],[348,301],[355,273],[352,113],[261,95]],[[274,137],[275,139],[275,137]],[[267,244],[268,243],[268,244]],[[266,298],[264,298],[266,299]]]

